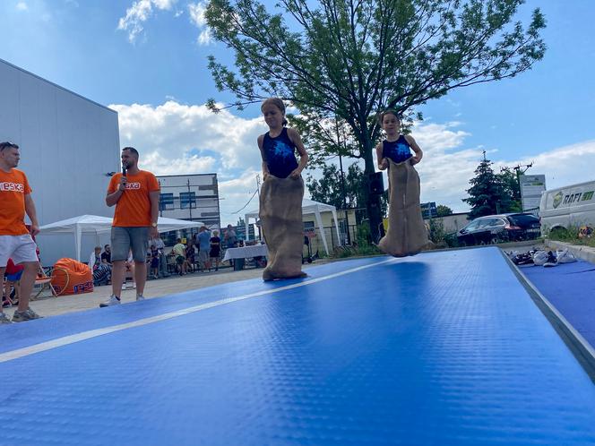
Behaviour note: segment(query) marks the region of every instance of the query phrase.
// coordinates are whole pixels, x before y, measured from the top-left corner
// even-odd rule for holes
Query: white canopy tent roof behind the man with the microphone
[[[167,219],[160,217],[157,220],[160,232],[175,231],[189,227],[202,227],[200,221],[188,221],[179,219]],[[56,221],[39,227],[39,234],[72,234],[74,236],[74,247],[76,249],[76,260],[81,262],[81,239],[83,234],[102,235],[111,231],[112,219],[100,217],[99,215],[80,215],[72,219]]]

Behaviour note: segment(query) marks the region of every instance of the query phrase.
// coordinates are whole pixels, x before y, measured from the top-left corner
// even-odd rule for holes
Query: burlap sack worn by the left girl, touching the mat
[[[269,256],[264,280],[305,277],[302,272],[304,180],[269,175],[260,193],[258,216]]]

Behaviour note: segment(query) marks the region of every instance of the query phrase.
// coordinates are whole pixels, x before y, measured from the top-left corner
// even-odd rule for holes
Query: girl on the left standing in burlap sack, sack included
[[[266,99],[261,110],[269,126],[269,131],[258,137],[263,159],[258,216],[269,251],[263,279],[306,277],[302,272],[304,180],[301,173],[308,156],[299,134],[286,127],[285,105],[281,99]]]

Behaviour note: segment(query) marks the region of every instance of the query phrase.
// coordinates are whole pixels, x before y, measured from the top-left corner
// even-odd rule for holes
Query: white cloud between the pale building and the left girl
[[[232,212],[246,204],[261,171],[256,138],[266,132],[261,117],[246,119],[228,110],[214,114],[205,106],[168,100],[151,105],[111,105],[118,112],[120,145],[141,152],[141,165],[156,175],[216,172],[220,180],[221,219],[236,223]],[[255,199],[254,199],[255,200]],[[252,201],[246,210],[258,207]]]

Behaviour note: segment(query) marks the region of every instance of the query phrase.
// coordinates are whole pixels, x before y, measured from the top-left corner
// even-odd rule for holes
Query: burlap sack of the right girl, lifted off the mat
[[[388,161],[388,229],[378,247],[395,257],[414,255],[428,244],[419,208],[418,172],[411,165],[411,159],[401,163]]]

